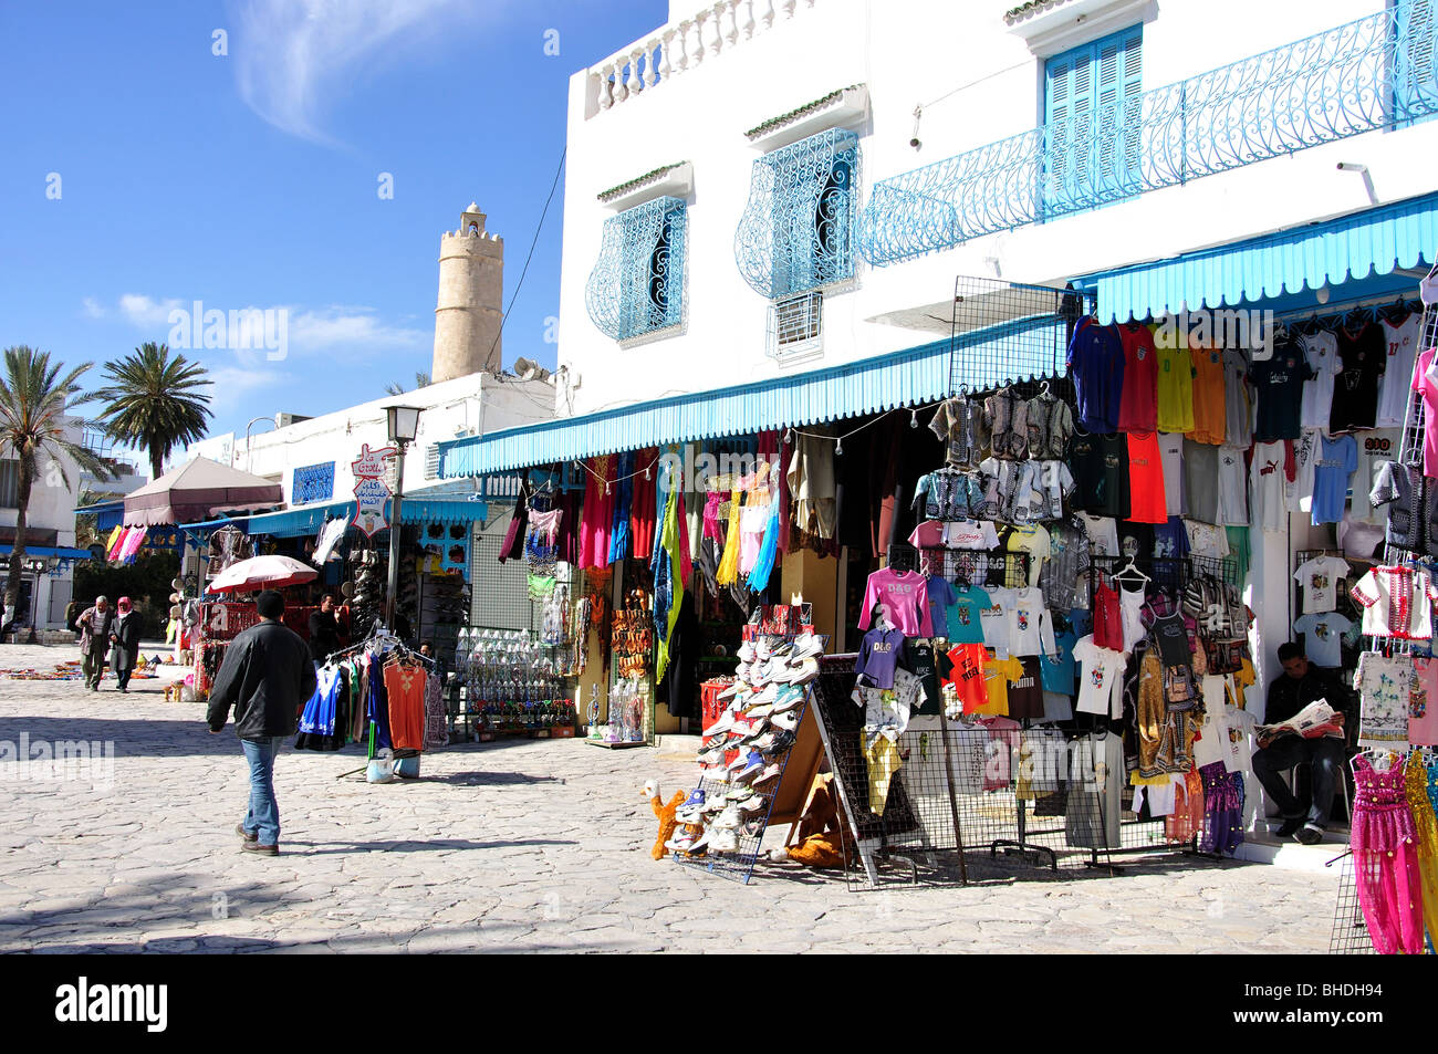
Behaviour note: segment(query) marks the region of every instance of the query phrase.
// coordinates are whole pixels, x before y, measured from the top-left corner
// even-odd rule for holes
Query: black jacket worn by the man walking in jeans
[[[234,707],[240,739],[290,736],[315,695],[315,663],[298,633],[262,621],[236,637],[210,689],[210,728],[224,728]]]

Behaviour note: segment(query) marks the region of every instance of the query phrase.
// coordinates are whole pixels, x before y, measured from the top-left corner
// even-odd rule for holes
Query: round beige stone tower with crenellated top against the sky
[[[503,292],[505,240],[485,232],[485,214],[470,201],[459,230],[440,239],[440,296],[430,370],[436,384],[482,370],[499,372]]]

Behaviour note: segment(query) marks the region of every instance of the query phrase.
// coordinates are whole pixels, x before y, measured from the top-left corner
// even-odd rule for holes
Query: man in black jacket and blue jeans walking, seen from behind
[[[234,707],[234,732],[250,766],[250,804],[234,830],[246,853],[279,853],[279,805],[275,755],[295,735],[299,713],[315,695],[315,663],[298,633],[280,625],[285,598],[267,590],[255,601],[260,615],[224,653],[210,690],[210,732],[219,732]]]

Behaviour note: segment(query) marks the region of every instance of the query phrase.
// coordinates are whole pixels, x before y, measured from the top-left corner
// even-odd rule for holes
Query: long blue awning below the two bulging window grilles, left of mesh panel
[[[828,370],[637,403],[440,443],[440,476],[483,476],[766,429],[802,427],[949,394],[951,341]]]

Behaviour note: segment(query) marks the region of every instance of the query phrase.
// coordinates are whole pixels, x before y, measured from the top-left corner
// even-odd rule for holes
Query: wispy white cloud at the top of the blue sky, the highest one
[[[240,98],[280,131],[334,145],[321,118],[335,96],[421,45],[453,42],[480,9],[495,16],[508,3],[236,0],[237,40],[230,53]]]

